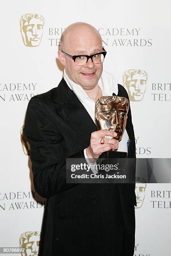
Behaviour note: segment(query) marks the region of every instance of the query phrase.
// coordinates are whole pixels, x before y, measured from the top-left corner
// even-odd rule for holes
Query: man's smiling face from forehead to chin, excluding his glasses
[[[70,55],[92,55],[102,51],[102,40],[92,29],[83,27],[73,31],[66,38],[66,49]],[[77,66],[71,58],[64,56],[65,70],[69,78],[84,90],[90,90],[98,84],[102,74],[102,63],[94,64],[91,59],[83,66]]]

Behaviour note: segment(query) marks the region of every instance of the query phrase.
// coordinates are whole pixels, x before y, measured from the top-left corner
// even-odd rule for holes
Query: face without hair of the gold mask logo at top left
[[[41,42],[43,34],[43,20],[32,18],[29,21],[25,21],[23,25],[22,33],[25,44],[27,46],[38,46]]]

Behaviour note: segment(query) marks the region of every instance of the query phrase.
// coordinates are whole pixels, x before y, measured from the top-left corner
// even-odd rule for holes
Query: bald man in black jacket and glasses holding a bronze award
[[[132,256],[135,184],[66,183],[66,158],[95,162],[110,149],[128,151],[128,157],[135,158],[130,110],[119,143],[105,138],[101,144],[102,136],[116,133],[97,131],[94,121],[99,97],[128,98],[128,94],[113,75],[103,71],[106,51],[93,26],[71,24],[60,44],[64,77],[58,87],[30,100],[23,130],[31,148],[34,187],[47,197],[40,255]]]

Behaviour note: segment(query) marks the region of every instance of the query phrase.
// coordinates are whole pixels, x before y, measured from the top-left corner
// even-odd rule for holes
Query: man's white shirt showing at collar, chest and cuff
[[[89,115],[91,116],[93,122],[95,123],[95,117],[94,117],[94,109],[95,109],[95,102],[92,100],[87,93],[82,89],[82,87],[79,84],[76,84],[73,82],[69,77],[67,76],[65,69],[64,69],[64,80],[66,81],[66,84],[69,86],[71,90],[75,93],[75,95],[78,97],[80,102],[82,102],[82,105],[87,110]],[[102,96],[112,96],[113,92],[117,95],[118,94],[118,85],[116,82],[116,78],[114,75],[103,71],[102,76],[99,79],[98,85],[102,91]],[[127,141],[128,141],[128,133],[125,129],[123,138],[119,142],[117,151],[123,151],[127,152]],[[84,149],[84,156],[86,158],[86,161],[88,164],[91,164],[87,154],[86,154],[86,148]],[[95,164],[95,163],[94,163]],[[98,171],[92,170],[92,172],[97,173]]]

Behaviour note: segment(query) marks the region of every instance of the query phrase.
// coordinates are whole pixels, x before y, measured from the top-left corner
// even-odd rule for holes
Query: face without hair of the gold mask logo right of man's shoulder
[[[128,94],[131,101],[140,101],[143,99],[146,89],[147,77],[143,74],[133,74],[128,77],[125,85],[128,88]]]

